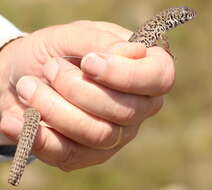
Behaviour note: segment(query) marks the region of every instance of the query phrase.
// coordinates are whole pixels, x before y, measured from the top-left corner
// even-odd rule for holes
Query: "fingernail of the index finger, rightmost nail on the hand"
[[[107,61],[104,57],[95,53],[86,55],[81,62],[82,71],[93,77],[101,75],[106,70],[106,67]]]

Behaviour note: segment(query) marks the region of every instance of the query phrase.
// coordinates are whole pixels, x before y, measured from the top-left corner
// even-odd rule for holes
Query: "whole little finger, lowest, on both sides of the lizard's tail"
[[[12,125],[8,123],[8,119],[13,120]],[[12,130],[8,130],[8,128],[12,128]],[[22,121],[8,117],[8,113],[4,114],[3,130],[15,142],[18,140],[17,136],[20,135],[21,129]],[[64,171],[84,168],[108,160],[122,146],[134,138],[127,136],[129,130],[131,128],[124,128],[122,139],[117,147],[111,150],[95,150],[66,138],[52,128],[40,126],[33,145],[33,154],[40,160]]]

